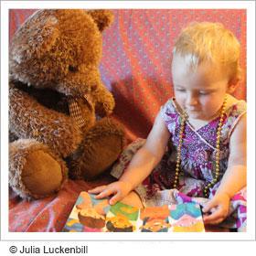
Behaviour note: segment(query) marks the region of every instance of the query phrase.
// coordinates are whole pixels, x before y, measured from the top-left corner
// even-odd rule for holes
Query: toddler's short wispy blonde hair
[[[240,42],[220,23],[192,23],[176,40],[174,54],[189,57],[190,67],[201,63],[220,64],[227,70],[229,80],[241,78]]]

